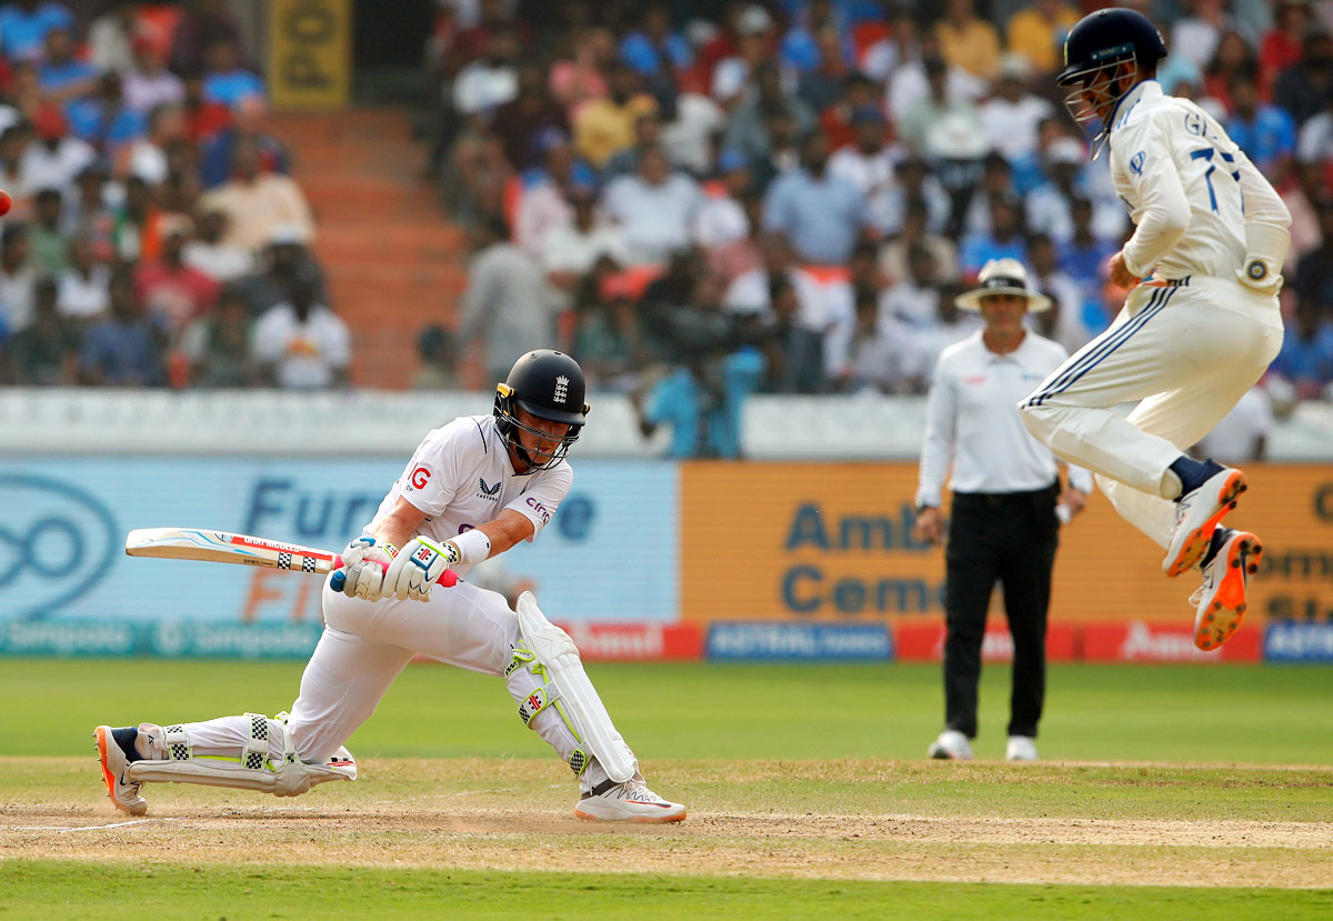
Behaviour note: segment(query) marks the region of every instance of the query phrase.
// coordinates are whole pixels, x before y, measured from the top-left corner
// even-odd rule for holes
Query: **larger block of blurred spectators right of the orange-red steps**
[[[443,3],[431,165],[475,228],[461,348],[491,376],[544,328],[599,388],[924,391],[976,328],[953,299],[1022,260],[1074,351],[1114,319],[1132,231],[1052,75],[1061,0]],[[1294,216],[1272,377],[1333,381],[1333,4],[1134,4],[1161,80],[1213,113]],[[545,300],[543,300],[545,295]],[[523,316],[517,316],[521,304]]]

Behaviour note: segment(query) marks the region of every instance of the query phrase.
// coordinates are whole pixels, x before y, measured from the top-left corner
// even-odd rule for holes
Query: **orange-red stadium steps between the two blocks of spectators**
[[[291,148],[293,175],[315,209],[329,300],[352,329],[352,381],[408,387],[417,332],[455,325],[465,283],[463,235],[420,179],[424,155],[408,113],[275,113],[271,131]]]

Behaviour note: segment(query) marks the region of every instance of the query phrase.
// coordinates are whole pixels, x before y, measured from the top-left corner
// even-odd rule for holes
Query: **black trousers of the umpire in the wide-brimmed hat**
[[[998,580],[1013,636],[1009,734],[1036,738],[1046,693],[1046,609],[1060,521],[1058,484],[1033,492],[954,493],[945,550],[944,701],[949,729],[977,734],[986,608]]]

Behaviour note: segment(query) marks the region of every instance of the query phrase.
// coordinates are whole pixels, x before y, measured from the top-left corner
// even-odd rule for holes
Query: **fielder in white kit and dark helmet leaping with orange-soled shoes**
[[[1162,93],[1166,45],[1132,9],[1081,19],[1065,41],[1066,104],[1094,125],[1093,157],[1136,224],[1112,259],[1132,288],[1112,327],[1018,404],[1024,424],[1092,469],[1122,517],[1166,550],[1168,576],[1198,566],[1194,645],[1217,649],[1245,613],[1262,546],[1221,525],[1245,476],[1184,451],[1260,379],[1282,344],[1277,295],[1290,215],[1277,192],[1194,103]],[[1126,416],[1114,408],[1140,401]]]

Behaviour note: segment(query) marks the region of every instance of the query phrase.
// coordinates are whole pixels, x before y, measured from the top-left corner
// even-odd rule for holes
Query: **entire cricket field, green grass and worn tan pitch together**
[[[1333,670],[1053,666],[1040,765],[988,668],[976,764],[928,665],[589,668],[680,826],[569,816],[501,681],[415,665],[297,800],[105,801],[99,722],[291,705],[300,662],[0,660],[0,917],[1333,916]],[[168,824],[175,822],[175,824]],[[1096,884],[1096,885],[1093,885]]]

